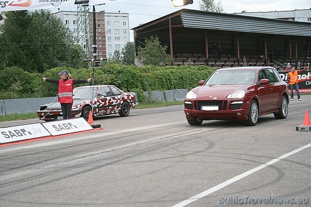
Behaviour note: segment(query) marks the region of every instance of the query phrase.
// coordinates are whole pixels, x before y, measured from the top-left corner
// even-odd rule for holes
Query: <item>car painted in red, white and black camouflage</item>
[[[130,109],[137,105],[135,93],[125,93],[113,85],[94,85],[74,88],[72,117],[84,117],[88,120],[89,111],[93,117],[118,113],[128,116]],[[93,102],[92,102],[93,100]],[[37,111],[40,120],[52,121],[63,119],[61,105],[52,102],[41,105]]]

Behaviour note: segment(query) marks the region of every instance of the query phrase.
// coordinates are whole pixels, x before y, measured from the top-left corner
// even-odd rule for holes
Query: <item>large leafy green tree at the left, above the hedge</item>
[[[84,66],[83,50],[48,10],[8,11],[0,25],[0,66],[42,73],[59,66]]]

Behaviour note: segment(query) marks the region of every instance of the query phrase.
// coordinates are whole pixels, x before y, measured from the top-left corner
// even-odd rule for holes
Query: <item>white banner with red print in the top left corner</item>
[[[0,0],[0,11],[75,7],[75,0]]]

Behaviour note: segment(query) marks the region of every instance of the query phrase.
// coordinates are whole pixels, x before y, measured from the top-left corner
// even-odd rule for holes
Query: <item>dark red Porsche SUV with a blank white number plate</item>
[[[257,124],[258,116],[273,113],[285,119],[288,86],[272,67],[218,69],[188,92],[184,112],[190,125],[203,120],[237,120]]]

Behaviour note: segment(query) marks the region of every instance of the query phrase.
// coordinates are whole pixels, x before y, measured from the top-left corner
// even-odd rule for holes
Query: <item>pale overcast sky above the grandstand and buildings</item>
[[[215,0],[215,2],[218,2],[218,0]],[[221,4],[225,13],[288,11],[311,8],[310,0],[221,0]],[[129,13],[130,29],[182,8],[198,10],[198,0],[194,0],[193,4],[182,7],[174,7],[171,0],[117,0],[105,5],[95,6],[96,11]],[[63,10],[73,9],[63,8]],[[130,38],[133,41],[132,35]]]

